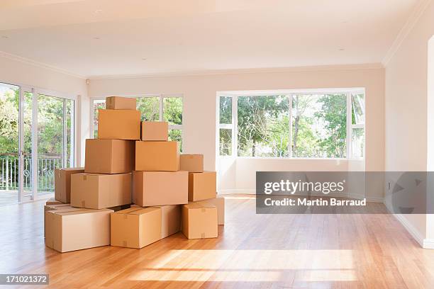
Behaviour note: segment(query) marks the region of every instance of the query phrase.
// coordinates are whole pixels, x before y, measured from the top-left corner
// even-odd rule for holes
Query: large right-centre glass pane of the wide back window
[[[344,158],[346,137],[345,94],[293,96],[293,157]]]

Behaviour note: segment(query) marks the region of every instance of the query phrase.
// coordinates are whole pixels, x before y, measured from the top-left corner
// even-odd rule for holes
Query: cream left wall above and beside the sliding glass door
[[[23,60],[21,57],[13,57],[3,52],[0,52],[0,82],[21,84],[81,96],[82,104],[77,103],[77,108],[89,106],[85,79],[58,72],[55,69]],[[76,154],[79,164],[84,159],[84,137],[89,135],[89,131],[86,131],[89,130],[89,122],[85,121],[83,123],[80,121],[82,119],[89,119],[89,108],[84,110],[77,119],[78,131],[76,137],[78,137],[79,144],[76,147]]]

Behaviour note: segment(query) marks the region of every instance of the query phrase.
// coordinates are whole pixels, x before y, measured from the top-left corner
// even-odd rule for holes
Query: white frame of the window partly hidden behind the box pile
[[[181,130],[182,138],[182,151],[184,151],[184,95],[183,94],[133,94],[133,95],[118,95],[122,97],[130,98],[145,98],[145,97],[157,97],[159,101],[159,121],[164,121],[164,101],[165,98],[181,98],[182,99],[182,124],[181,125],[171,125],[169,124],[169,130]],[[109,96],[96,96],[90,98],[90,138],[94,138],[94,101],[104,101],[106,97]]]

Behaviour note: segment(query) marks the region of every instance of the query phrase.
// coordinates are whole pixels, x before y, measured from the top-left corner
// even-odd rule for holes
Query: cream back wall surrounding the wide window
[[[319,67],[257,72],[191,75],[172,77],[136,77],[91,79],[89,96],[135,94],[184,95],[184,152],[202,153],[205,168],[220,172],[221,190],[255,189],[255,171],[346,171],[346,160],[303,159],[216,159],[217,91],[263,89],[366,89],[366,169],[384,170],[384,69],[379,66]],[[350,165],[360,170],[360,164]],[[381,189],[382,190],[382,189]],[[382,196],[382,191],[378,192]]]

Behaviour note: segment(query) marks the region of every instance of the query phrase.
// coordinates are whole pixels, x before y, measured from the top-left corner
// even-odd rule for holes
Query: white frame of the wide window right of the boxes
[[[238,156],[238,97],[240,96],[278,96],[284,95],[293,101],[295,95],[321,95],[321,94],[345,94],[347,99],[347,152],[345,158],[318,158],[318,157],[293,157],[292,156],[292,105],[289,106],[289,142],[288,151],[289,157],[239,157]],[[363,94],[365,96],[365,114],[362,124],[352,124],[352,94]],[[232,98],[232,123],[222,124],[220,123],[220,98],[230,97]],[[352,129],[363,128],[363,139],[366,143],[366,92],[365,88],[352,88],[352,89],[279,89],[273,91],[218,91],[217,93],[217,105],[216,105],[216,156],[219,158],[244,158],[244,159],[365,159],[366,145],[363,149],[363,157],[352,157]],[[222,156],[220,155],[220,129],[232,130],[232,154]]]

